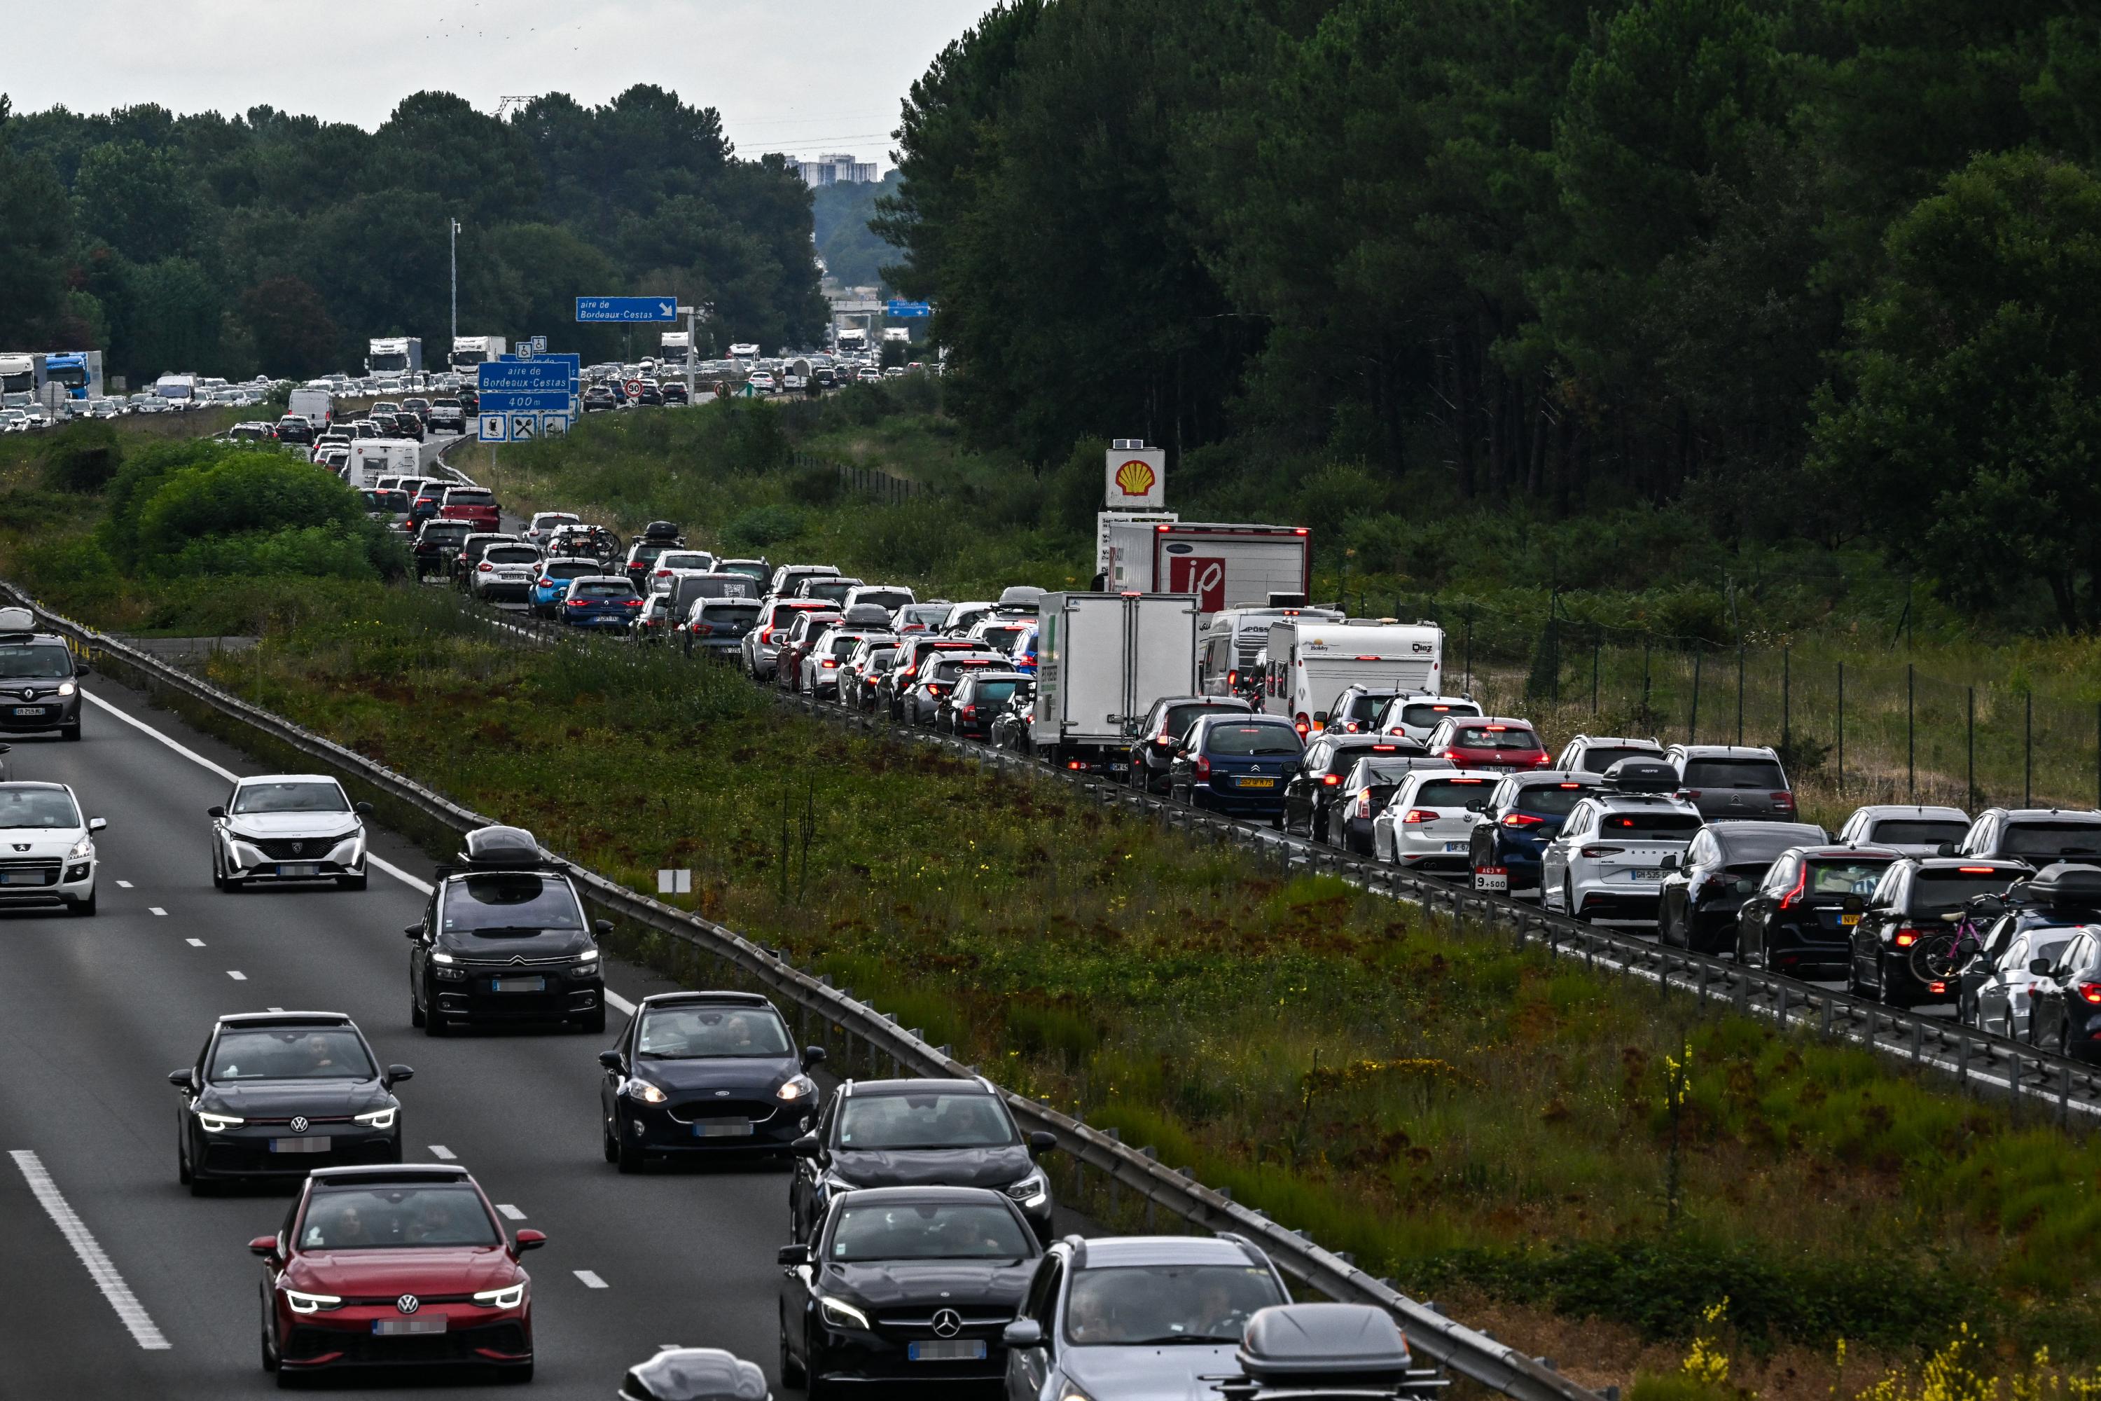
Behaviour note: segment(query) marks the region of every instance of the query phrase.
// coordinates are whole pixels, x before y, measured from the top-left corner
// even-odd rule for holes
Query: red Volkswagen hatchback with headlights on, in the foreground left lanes
[[[538,1231],[504,1237],[466,1168],[317,1168],[263,1256],[263,1369],[494,1367],[532,1378]]]

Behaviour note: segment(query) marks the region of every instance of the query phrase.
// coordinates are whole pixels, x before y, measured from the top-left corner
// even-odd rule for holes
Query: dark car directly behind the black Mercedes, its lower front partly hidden
[[[1036,1159],[1053,1147],[1023,1136],[990,1080],[849,1080],[794,1145],[788,1225],[807,1241],[832,1197],[861,1187],[992,1187],[1048,1239],[1050,1176]]]

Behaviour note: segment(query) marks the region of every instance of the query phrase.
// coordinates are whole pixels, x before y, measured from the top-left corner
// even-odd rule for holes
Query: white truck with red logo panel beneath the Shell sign
[[[1195,594],[1210,615],[1269,594],[1313,588],[1313,538],[1305,525],[1202,525],[1107,521],[1111,592]]]

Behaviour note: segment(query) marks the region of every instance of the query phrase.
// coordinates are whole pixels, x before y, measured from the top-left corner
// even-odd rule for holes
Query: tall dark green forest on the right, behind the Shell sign
[[[2097,78],[2036,0],[1002,0],[876,229],[1038,464],[1670,502],[2093,630]]]

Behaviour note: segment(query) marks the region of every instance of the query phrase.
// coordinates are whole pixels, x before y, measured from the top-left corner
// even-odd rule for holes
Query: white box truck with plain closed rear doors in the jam
[[[1195,611],[1189,594],[1044,594],[1034,750],[1069,769],[1126,762],[1130,731],[1153,702],[1195,685]]]

